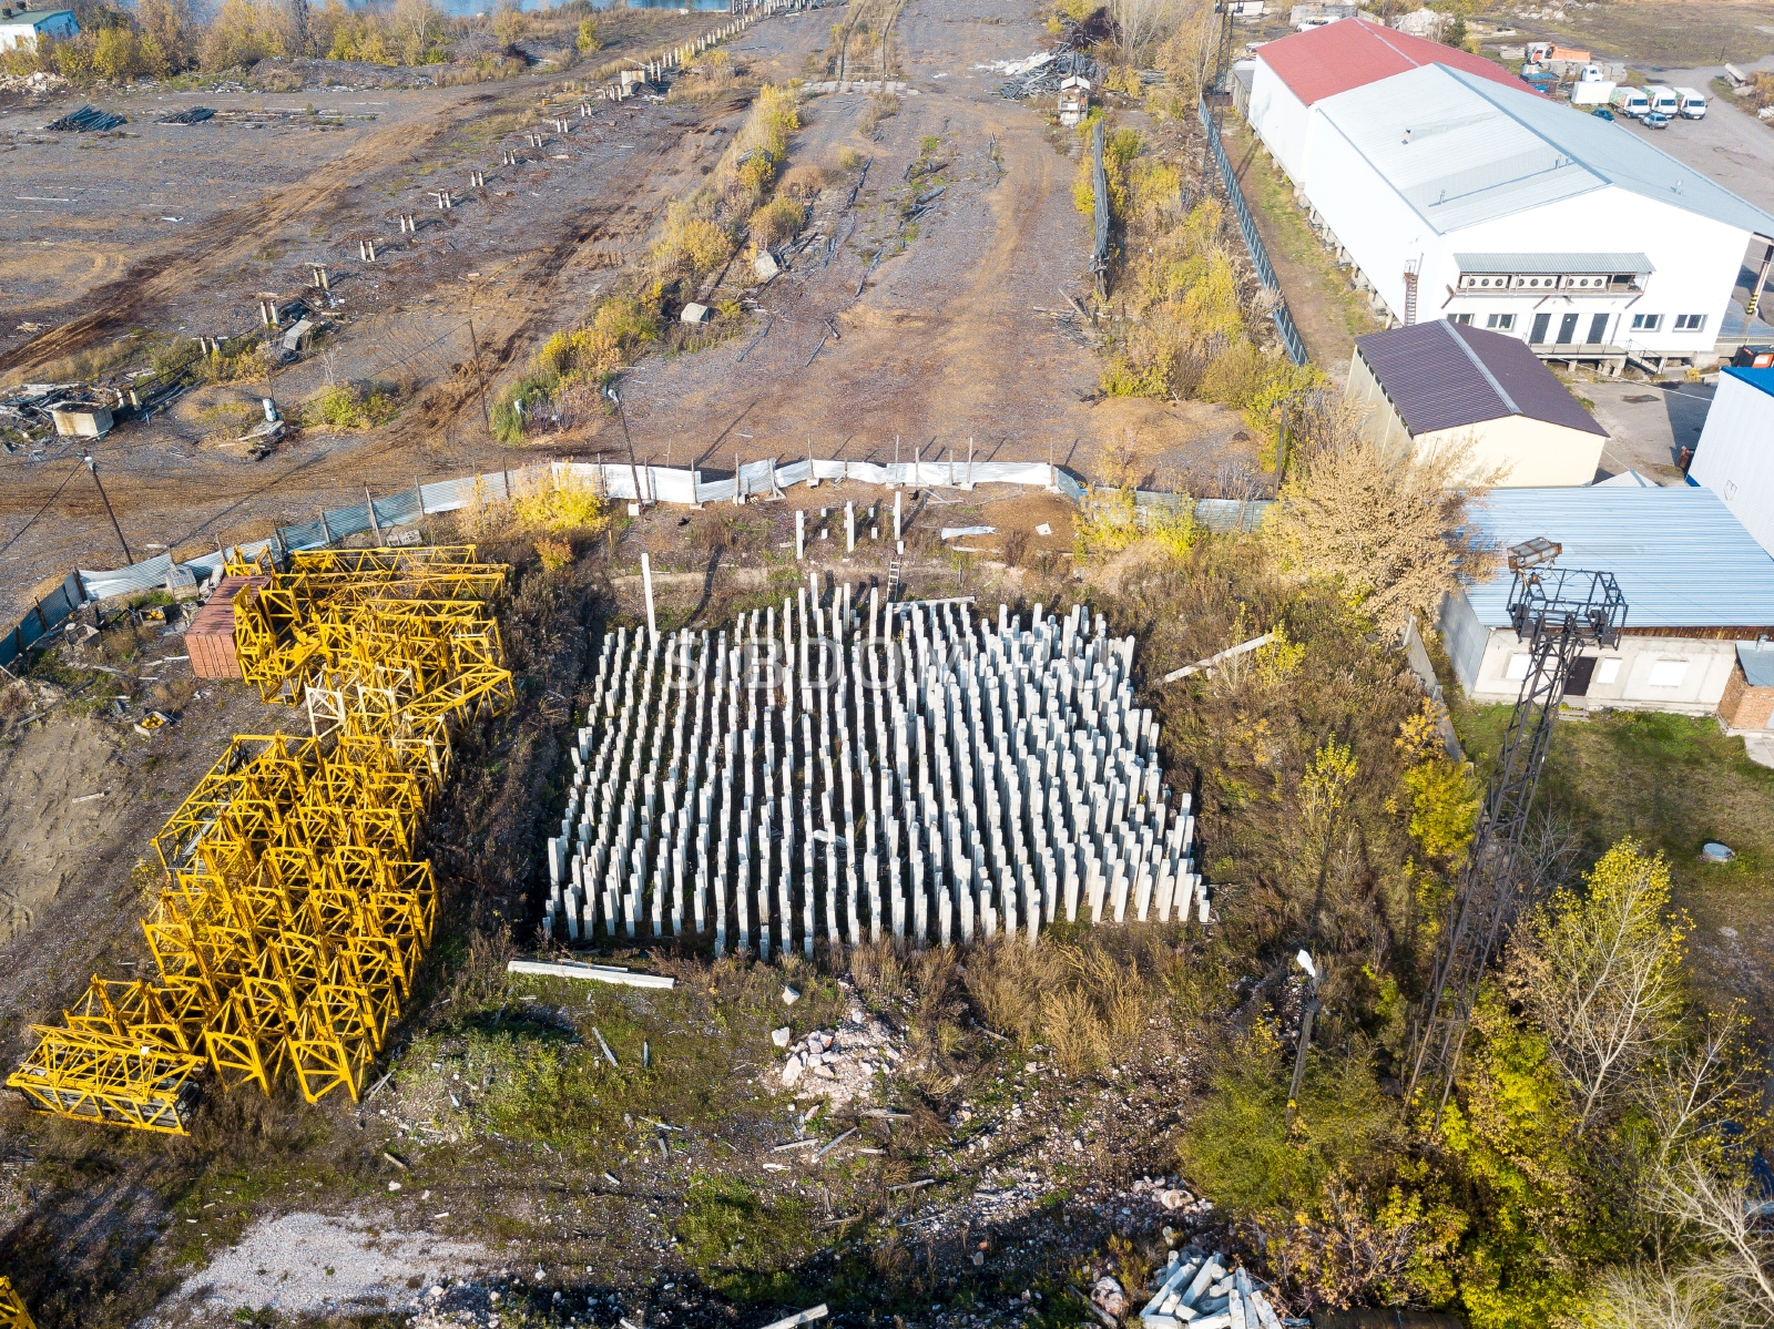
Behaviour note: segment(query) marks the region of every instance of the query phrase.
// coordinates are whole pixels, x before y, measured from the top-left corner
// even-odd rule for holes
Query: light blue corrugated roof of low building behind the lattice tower
[[[1510,625],[1501,550],[1535,536],[1565,547],[1559,568],[1614,573],[1629,628],[1774,628],[1774,557],[1712,490],[1492,490],[1474,515],[1499,548],[1499,571],[1465,591],[1487,628]]]

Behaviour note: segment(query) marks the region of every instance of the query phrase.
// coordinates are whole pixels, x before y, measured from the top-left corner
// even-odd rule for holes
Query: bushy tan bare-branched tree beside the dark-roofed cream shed
[[[1432,616],[1462,577],[1488,555],[1471,529],[1480,484],[1471,447],[1417,456],[1368,438],[1362,413],[1346,403],[1316,403],[1302,421],[1304,461],[1281,490],[1270,531],[1293,568],[1329,577],[1393,630],[1412,614]]]

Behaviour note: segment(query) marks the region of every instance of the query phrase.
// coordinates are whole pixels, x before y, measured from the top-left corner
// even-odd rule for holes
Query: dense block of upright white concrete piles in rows
[[[1171,802],[1132,664],[1082,605],[976,623],[818,575],[731,633],[619,630],[571,747],[545,928],[690,926],[768,958],[1206,923],[1190,800]]]

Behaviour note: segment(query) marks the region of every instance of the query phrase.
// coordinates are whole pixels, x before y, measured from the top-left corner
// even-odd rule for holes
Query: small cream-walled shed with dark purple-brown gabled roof
[[[1364,429],[1419,452],[1471,442],[1503,484],[1588,484],[1607,429],[1517,337],[1437,319],[1355,339],[1348,399]]]

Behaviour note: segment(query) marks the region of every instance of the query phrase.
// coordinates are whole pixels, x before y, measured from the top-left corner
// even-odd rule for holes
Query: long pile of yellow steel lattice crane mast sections
[[[59,1116],[184,1134],[204,1066],[357,1098],[436,924],[417,843],[451,735],[514,701],[488,609],[507,570],[472,547],[227,571],[270,577],[234,600],[234,649],[309,733],[234,738],[154,838],[160,981],[94,978],[7,1079]]]

